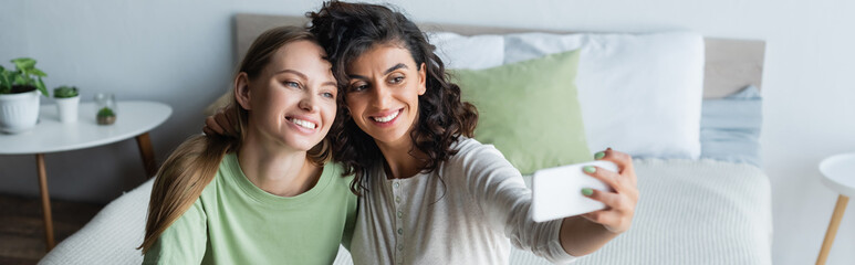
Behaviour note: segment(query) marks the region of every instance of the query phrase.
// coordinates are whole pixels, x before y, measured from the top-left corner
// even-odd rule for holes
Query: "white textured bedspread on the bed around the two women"
[[[771,264],[772,206],[757,167],[713,160],[634,161],[633,227],[575,264]],[[40,264],[139,264],[152,181],[111,202]],[[340,253],[335,264],[350,264]],[[511,264],[549,264],[514,250]]]

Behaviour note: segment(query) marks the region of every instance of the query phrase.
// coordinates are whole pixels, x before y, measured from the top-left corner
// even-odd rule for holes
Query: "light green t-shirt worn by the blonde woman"
[[[356,216],[353,178],[341,173],[327,163],[315,187],[278,197],[252,184],[228,153],[143,264],[332,264],[340,243],[350,247]]]

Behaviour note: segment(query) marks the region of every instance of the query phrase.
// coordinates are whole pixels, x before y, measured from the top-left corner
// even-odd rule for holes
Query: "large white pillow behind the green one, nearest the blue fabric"
[[[700,156],[701,35],[522,33],[504,45],[504,63],[582,49],[576,86],[591,151]]]

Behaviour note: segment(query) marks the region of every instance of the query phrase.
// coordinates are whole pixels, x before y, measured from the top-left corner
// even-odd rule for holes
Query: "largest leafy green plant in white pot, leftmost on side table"
[[[18,134],[32,129],[39,119],[39,99],[48,96],[35,60],[21,57],[11,61],[15,70],[0,65],[0,131]],[[41,93],[41,95],[40,95]]]

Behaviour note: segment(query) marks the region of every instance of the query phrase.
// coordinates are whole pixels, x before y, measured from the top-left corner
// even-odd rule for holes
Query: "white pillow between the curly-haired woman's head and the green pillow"
[[[481,70],[502,65],[504,38],[501,35],[465,36],[451,32],[428,32],[437,55],[446,68]]]

